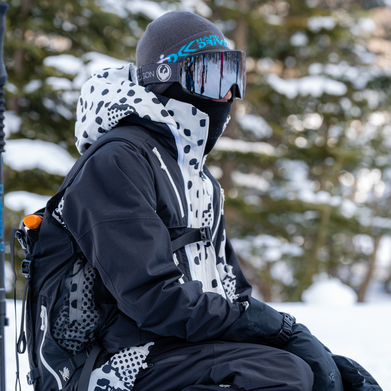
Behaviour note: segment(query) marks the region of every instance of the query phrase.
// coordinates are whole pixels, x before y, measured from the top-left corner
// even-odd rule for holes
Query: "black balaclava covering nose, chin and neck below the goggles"
[[[221,136],[228,115],[230,115],[233,99],[231,98],[228,102],[214,102],[212,99],[199,98],[185,92],[178,82],[172,83],[162,95],[170,99],[190,103],[198,110],[208,114],[209,132],[204,154],[206,155],[212,151],[216,141]]]

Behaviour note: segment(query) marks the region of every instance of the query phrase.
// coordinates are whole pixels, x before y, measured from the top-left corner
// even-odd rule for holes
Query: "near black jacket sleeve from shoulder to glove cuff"
[[[223,334],[239,303],[180,284],[170,236],[155,212],[148,156],[120,142],[99,149],[66,190],[63,220],[115,297],[143,330],[198,342]]]

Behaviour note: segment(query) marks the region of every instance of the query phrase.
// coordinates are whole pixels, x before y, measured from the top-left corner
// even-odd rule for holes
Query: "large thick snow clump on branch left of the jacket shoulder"
[[[5,146],[4,163],[16,171],[38,168],[66,176],[75,161],[64,148],[47,141],[19,138],[8,140]]]

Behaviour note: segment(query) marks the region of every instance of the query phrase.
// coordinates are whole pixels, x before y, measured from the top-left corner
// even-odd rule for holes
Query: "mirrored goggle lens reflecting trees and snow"
[[[246,53],[237,50],[188,57],[181,65],[181,86],[205,98],[222,99],[235,84],[235,95],[244,98]]]

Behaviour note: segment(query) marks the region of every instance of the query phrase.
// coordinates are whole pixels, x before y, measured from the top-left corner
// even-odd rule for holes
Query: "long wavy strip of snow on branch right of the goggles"
[[[341,96],[348,91],[346,85],[341,81],[319,75],[305,76],[299,79],[281,79],[277,75],[271,74],[265,78],[274,90],[289,99],[293,99],[297,95],[321,97],[324,93]]]

